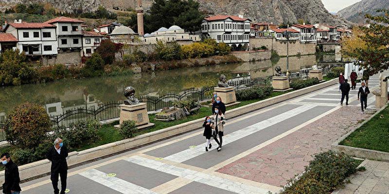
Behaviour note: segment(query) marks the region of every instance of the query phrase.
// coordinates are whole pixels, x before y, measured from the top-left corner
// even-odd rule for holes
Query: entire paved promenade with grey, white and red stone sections
[[[378,83],[371,78],[370,86]],[[357,90],[341,107],[338,86],[229,119],[223,149],[205,152],[203,129],[69,170],[68,194],[266,194],[300,174],[312,155],[374,112],[360,114]],[[370,108],[374,96],[368,99]],[[228,115],[226,115],[228,117]],[[21,185],[51,194],[50,177]]]

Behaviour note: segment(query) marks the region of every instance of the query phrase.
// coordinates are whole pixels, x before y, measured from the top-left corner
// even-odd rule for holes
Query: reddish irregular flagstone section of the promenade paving
[[[360,114],[359,106],[342,107],[217,172],[282,187],[304,171],[312,155],[328,150],[369,116]]]

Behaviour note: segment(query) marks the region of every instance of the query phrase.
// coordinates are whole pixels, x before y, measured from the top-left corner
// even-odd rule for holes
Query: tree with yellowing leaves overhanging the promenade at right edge
[[[377,10],[384,12],[383,16],[366,15],[370,21],[370,27],[362,27],[351,39],[344,40],[343,53],[354,58],[355,65],[365,69],[364,77],[383,72],[389,68],[389,10]],[[350,42],[358,42],[352,44]]]

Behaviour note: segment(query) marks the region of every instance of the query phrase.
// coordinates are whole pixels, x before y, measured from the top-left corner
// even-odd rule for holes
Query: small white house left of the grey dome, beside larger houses
[[[82,56],[90,56],[94,50],[100,45],[103,35],[97,32],[82,32]]]

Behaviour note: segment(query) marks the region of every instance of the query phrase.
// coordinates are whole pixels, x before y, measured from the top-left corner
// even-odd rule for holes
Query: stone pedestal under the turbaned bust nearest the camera
[[[124,121],[133,120],[137,125],[138,129],[152,127],[155,124],[150,123],[149,115],[147,114],[146,103],[139,103],[136,105],[120,105],[120,124]],[[115,127],[120,128],[120,125]]]

